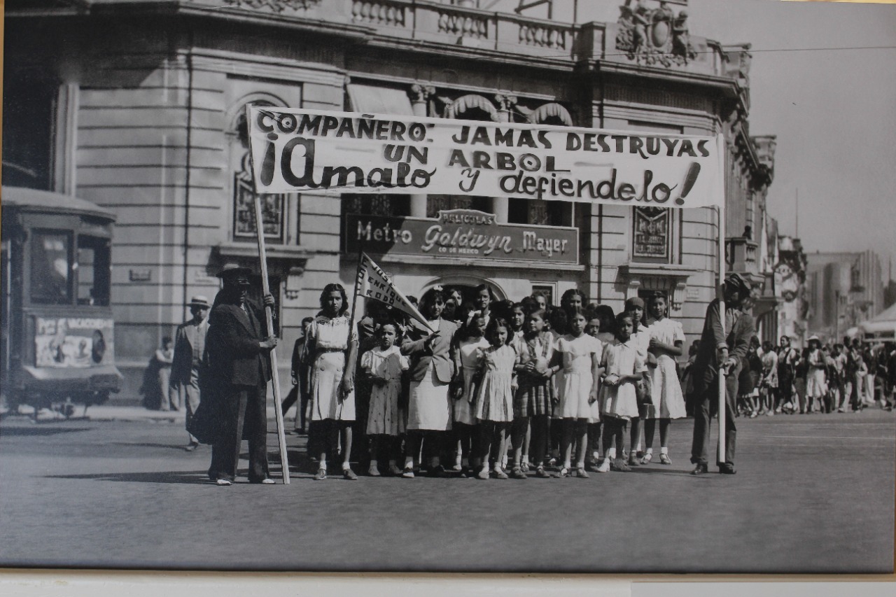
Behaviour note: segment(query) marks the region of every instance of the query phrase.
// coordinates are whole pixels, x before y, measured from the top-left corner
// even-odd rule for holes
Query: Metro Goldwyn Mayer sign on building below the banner
[[[349,213],[344,224],[349,253],[579,263],[578,229],[499,223],[474,210],[439,212],[435,219]]]

